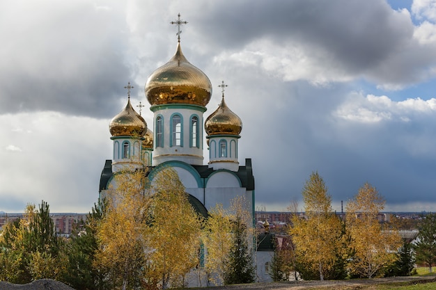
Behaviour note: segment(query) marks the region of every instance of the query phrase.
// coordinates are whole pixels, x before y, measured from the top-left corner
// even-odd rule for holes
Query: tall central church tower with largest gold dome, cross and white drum
[[[180,46],[180,20],[176,54],[148,77],[146,97],[153,111],[153,166],[166,161],[203,164],[203,113],[210,101],[208,76],[189,63]]]

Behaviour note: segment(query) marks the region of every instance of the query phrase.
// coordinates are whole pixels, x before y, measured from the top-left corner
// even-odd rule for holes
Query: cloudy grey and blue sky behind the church
[[[387,210],[436,211],[435,0],[1,1],[0,211],[91,210],[123,87],[148,105],[178,13],[214,86],[205,117],[228,84],[258,207],[301,200],[318,170],[338,211],[365,182]]]

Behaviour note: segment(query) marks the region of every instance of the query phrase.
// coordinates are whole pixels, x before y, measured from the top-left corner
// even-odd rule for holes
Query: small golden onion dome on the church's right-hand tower
[[[210,114],[204,124],[208,135],[239,135],[242,131],[242,121],[224,102],[224,96],[217,111]]]

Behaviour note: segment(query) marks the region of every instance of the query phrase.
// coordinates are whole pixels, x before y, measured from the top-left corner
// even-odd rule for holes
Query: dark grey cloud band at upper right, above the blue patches
[[[410,14],[382,0],[217,2],[189,17],[201,23],[198,35],[219,49],[238,50],[262,38],[278,48],[295,44],[318,67],[389,88],[422,81],[431,76],[426,67],[435,65],[435,47],[413,38]]]

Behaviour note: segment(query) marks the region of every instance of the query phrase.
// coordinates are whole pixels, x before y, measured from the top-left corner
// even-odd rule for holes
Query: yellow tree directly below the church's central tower
[[[170,284],[185,286],[185,275],[199,263],[201,219],[189,204],[176,170],[160,170],[151,194],[149,241],[154,277],[160,277],[162,289]]]

